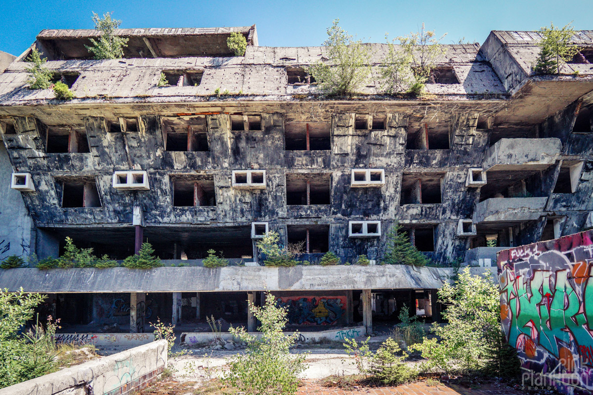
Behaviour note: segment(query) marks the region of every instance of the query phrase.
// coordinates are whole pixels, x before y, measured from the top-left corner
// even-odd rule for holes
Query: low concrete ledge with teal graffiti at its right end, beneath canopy
[[[284,332],[287,335],[292,335],[295,332]],[[297,341],[299,343],[318,342],[322,339],[329,339],[334,341],[343,341],[344,339],[354,339],[365,335],[364,326],[336,328],[329,330],[320,330],[318,332],[299,332]],[[252,335],[261,336],[260,332],[251,332]],[[195,345],[208,343],[213,341],[216,336],[213,332],[183,332],[181,333],[182,345]],[[233,336],[231,333],[222,333],[223,340],[231,341]]]

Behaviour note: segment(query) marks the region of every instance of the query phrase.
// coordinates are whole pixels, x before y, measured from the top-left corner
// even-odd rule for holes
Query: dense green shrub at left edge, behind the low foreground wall
[[[39,325],[33,332],[20,335],[44,296],[0,290],[0,388],[21,383],[55,369],[55,343],[52,335],[57,324],[49,320],[48,329]]]

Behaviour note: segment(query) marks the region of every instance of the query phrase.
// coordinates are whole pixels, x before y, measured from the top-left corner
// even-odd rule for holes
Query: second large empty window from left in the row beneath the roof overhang
[[[207,152],[208,127],[205,116],[189,118],[162,118],[165,150],[181,152]]]

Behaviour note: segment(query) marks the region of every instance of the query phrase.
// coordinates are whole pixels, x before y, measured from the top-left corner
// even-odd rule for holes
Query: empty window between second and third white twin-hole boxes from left
[[[216,205],[214,179],[211,175],[176,176],[173,182],[173,205],[175,207],[206,207]]]

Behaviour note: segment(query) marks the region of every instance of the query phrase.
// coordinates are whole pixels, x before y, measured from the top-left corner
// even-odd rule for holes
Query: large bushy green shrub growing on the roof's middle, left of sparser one
[[[339,26],[338,19],[327,28],[323,46],[327,63],[319,60],[307,68],[326,95],[353,96],[371,72],[371,53],[361,40],[355,40]]]

